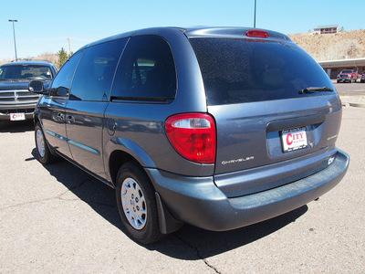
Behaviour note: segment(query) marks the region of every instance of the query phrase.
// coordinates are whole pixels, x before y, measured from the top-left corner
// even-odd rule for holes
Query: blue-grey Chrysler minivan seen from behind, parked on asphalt
[[[41,163],[67,159],[116,190],[141,242],[189,223],[224,231],[282,215],[345,175],[341,101],[286,35],[156,27],[80,48],[36,106]]]

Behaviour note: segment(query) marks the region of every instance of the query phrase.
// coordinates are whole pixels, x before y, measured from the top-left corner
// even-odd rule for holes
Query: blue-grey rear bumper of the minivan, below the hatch
[[[146,169],[172,216],[196,227],[224,231],[285,214],[324,195],[346,174],[349,155],[337,151],[327,168],[253,195],[227,198],[213,177],[185,177]]]

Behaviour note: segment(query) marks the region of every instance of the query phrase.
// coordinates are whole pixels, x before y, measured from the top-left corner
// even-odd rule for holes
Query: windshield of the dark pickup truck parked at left
[[[52,71],[39,65],[2,66],[0,79],[52,79]]]

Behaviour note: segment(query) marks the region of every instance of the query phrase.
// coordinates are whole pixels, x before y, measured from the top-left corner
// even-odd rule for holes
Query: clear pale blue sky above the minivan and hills
[[[285,34],[316,26],[365,28],[361,1],[256,0],[256,27]],[[76,51],[89,42],[150,26],[253,26],[255,0],[0,0],[0,60]]]

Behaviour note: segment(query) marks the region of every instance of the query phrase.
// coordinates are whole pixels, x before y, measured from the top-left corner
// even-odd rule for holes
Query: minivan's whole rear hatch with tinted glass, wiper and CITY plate
[[[307,52],[277,37],[190,42],[216,122],[214,182],[226,195],[287,184],[333,161],[341,104]]]

